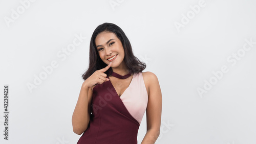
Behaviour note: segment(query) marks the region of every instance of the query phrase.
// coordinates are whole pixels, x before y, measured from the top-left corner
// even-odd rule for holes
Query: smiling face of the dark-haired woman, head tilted
[[[105,64],[112,62],[111,67],[118,67],[123,64],[124,50],[122,42],[115,33],[101,32],[95,39],[96,49],[99,57]]]

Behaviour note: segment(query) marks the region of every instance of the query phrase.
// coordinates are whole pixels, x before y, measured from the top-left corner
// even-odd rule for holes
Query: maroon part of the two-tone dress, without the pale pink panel
[[[137,144],[139,126],[111,81],[106,81],[93,88],[90,122],[77,144]]]

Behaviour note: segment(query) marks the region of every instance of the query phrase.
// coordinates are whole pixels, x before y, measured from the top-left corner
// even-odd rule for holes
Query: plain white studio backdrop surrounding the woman
[[[147,64],[144,71],[159,79],[157,143],[256,143],[256,44],[243,50],[250,47],[245,39],[256,41],[255,1],[35,1],[23,11],[24,1],[0,1],[1,95],[5,84],[10,87],[9,140],[1,116],[0,143],[78,141],[71,117],[88,68],[91,35],[103,22],[125,32],[135,56]],[[190,6],[199,3],[200,10],[193,11]],[[12,18],[12,9],[19,15]],[[66,59],[58,57],[75,35],[86,39]],[[240,60],[232,56],[238,52]],[[53,61],[58,67],[30,92],[27,84]],[[212,71],[223,66],[228,72],[217,79]],[[198,88],[210,81],[200,97]],[[0,102],[4,115],[3,96]],[[145,132],[144,115],[138,143]]]

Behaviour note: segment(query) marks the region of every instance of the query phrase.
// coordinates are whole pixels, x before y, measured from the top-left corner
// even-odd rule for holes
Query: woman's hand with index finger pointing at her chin
[[[104,73],[111,67],[112,62],[106,67],[96,70],[86,81],[83,82],[83,85],[90,88],[96,84],[102,84],[103,82],[109,81],[110,79],[106,78],[106,74]]]

